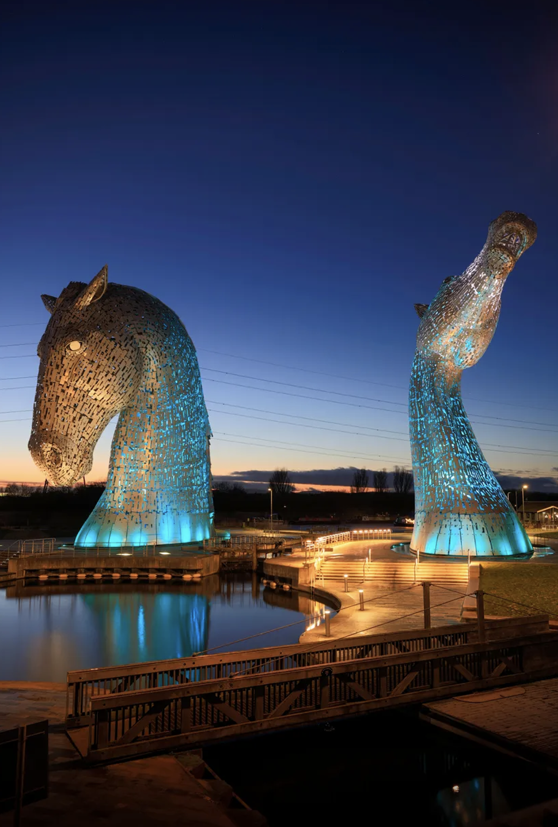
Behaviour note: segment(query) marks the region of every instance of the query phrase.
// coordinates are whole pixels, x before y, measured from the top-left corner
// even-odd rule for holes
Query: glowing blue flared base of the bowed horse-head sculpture
[[[75,538],[74,548],[115,548],[169,546],[202,543],[215,537],[213,514],[156,514],[148,523],[141,514],[114,514],[108,509],[93,510]]]

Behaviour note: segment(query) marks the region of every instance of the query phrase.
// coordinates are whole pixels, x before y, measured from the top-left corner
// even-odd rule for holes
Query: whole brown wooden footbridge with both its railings
[[[545,615],[69,672],[67,725],[107,761],[558,674]],[[83,739],[83,744],[81,743]]]

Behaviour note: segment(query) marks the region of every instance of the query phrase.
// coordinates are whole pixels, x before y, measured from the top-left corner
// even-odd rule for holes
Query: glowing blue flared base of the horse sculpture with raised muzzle
[[[420,538],[427,538],[421,547]],[[446,514],[417,511],[410,550],[429,557],[530,557],[525,529],[512,512]]]

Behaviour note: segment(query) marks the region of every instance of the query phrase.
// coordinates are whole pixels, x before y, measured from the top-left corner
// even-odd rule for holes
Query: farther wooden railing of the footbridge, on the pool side
[[[548,619],[513,618],[487,621],[487,638],[517,633],[517,629],[547,629]],[[79,724],[88,719],[93,697],[180,686],[198,681],[216,681],[242,674],[281,672],[307,667],[379,657],[398,652],[420,652],[423,649],[457,646],[479,639],[475,624],[453,624],[437,629],[415,629],[355,638],[325,639],[305,648],[300,643],[282,647],[245,649],[230,653],[212,653],[166,661],[129,663],[125,666],[102,667],[68,672],[66,690],[66,721]]]

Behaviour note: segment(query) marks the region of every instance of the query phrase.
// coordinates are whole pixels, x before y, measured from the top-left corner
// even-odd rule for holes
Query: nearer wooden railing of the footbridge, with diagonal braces
[[[546,632],[96,696],[88,758],[190,747],[534,680],[556,672],[557,647],[558,633]]]

